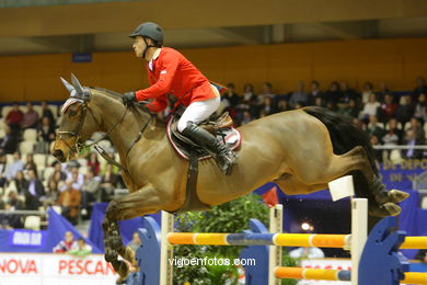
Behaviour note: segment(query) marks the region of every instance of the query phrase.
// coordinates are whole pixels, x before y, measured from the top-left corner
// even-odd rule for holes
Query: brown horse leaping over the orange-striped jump
[[[148,112],[123,105],[115,92],[82,88],[73,76],[72,86],[65,84],[71,96],[62,110],[54,156],[67,161],[94,132],[104,132],[126,169],[122,174],[130,193],[109,203],[103,223],[105,259],[125,277],[128,269],[117,254],[135,259],[122,243],[117,221],[178,209],[185,201],[188,162],[170,145],[164,123]],[[244,140],[231,175],[223,175],[214,159],[200,161],[197,194],[201,202],[219,205],[270,181],[286,194],[312,193],[353,173],[356,193],[368,197],[371,215],[400,214],[394,203],[406,198],[406,193],[385,191],[369,139],[344,117],[307,107],[254,121],[239,130]]]

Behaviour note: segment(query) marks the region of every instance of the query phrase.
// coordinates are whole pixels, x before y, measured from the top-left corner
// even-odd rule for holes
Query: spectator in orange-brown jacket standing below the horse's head
[[[57,205],[62,208],[62,216],[72,225],[77,225],[81,203],[80,191],[73,189],[72,180],[66,182],[66,189],[59,194]]]

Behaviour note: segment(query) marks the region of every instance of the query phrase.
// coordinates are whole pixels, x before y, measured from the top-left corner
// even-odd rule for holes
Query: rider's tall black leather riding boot
[[[218,141],[214,135],[206,129],[198,127],[193,122],[187,123],[187,127],[182,132],[182,134],[194,140],[196,144],[206,147],[210,152],[214,152],[219,169],[226,175],[231,174],[231,169],[236,162],[236,156],[233,151]]]

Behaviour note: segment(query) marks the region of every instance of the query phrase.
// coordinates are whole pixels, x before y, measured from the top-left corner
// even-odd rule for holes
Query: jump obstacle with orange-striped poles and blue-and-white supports
[[[149,217],[145,218],[146,229],[140,229],[142,247],[137,252],[140,264],[140,283],[147,284],[172,284],[173,246],[176,244],[200,244],[200,246],[246,246],[243,250],[242,259],[256,259],[257,266],[247,266],[246,284],[278,284],[280,278],[308,278],[308,280],[330,280],[330,281],[351,281],[351,284],[399,284],[400,280],[406,284],[427,284],[427,273],[405,272],[408,270],[407,262],[400,260],[394,262],[394,269],[390,276],[380,278],[371,274],[369,270],[378,272],[378,264],[388,265],[385,252],[392,251],[390,247],[400,249],[427,249],[427,237],[404,237],[401,231],[394,232],[396,237],[391,238],[394,243],[384,247],[378,244],[379,237],[369,237],[366,241],[363,227],[366,224],[366,200],[353,200],[351,202],[351,231],[353,235],[310,235],[310,233],[280,233],[282,225],[281,205],[270,210],[270,231],[262,223],[255,219],[250,220],[251,231],[243,233],[192,233],[173,232],[173,216],[162,213],[162,230],[159,225]],[[363,214],[365,212],[365,214]],[[359,217],[359,219],[358,219]],[[360,218],[361,217],[361,218]],[[365,223],[365,226],[362,225]],[[373,230],[377,233],[390,230],[393,219],[383,219],[380,229]],[[361,225],[361,231],[360,229]],[[274,233],[272,233],[272,231]],[[360,233],[362,232],[362,233]],[[378,233],[380,235],[380,233]],[[385,239],[386,235],[383,235]],[[361,248],[357,248],[356,240],[359,240]],[[396,243],[400,243],[396,246]],[[372,242],[373,241],[373,242]],[[278,246],[269,247],[268,246]],[[338,270],[312,270],[301,267],[284,267],[281,263],[281,247],[321,247],[321,248],[343,248],[351,250],[351,271]],[[357,249],[357,250],[356,250]],[[365,249],[365,251],[363,251]],[[381,254],[379,254],[381,253]],[[365,255],[365,258],[363,258]],[[376,256],[372,256],[376,255]],[[147,261],[147,258],[149,261]],[[373,260],[383,259],[383,262],[372,265]],[[264,262],[263,262],[264,261]],[[378,262],[378,260],[377,260]],[[391,261],[390,261],[391,262]],[[143,264],[142,264],[143,263]],[[261,265],[258,265],[261,264]],[[268,265],[266,265],[268,264]],[[356,266],[355,266],[356,264]],[[360,264],[360,269],[357,265]],[[386,266],[385,266],[386,267]],[[390,267],[384,269],[390,271]],[[358,274],[357,274],[358,273]],[[385,274],[386,275],[386,274]],[[376,283],[369,278],[377,277]],[[368,278],[368,281],[367,281]]]

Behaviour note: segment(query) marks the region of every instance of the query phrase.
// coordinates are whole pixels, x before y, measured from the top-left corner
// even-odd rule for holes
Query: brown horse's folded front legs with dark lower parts
[[[125,261],[118,260],[118,255],[134,265],[136,265],[136,260],[130,248],[123,244],[117,223],[158,212],[161,208],[160,201],[162,200],[158,196],[158,191],[152,186],[146,186],[109,203],[103,220],[104,256],[107,262],[112,263],[120,280],[127,277],[129,267]]]

